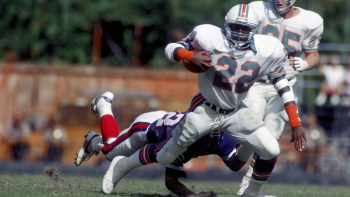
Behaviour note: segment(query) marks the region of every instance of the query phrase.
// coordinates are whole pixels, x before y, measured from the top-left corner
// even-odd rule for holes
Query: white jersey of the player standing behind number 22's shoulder
[[[315,12],[294,6],[299,13],[288,19],[282,18],[271,7],[271,3],[253,1],[248,4],[258,16],[257,34],[277,37],[288,51],[289,56],[317,53],[323,33],[323,19]],[[288,64],[289,65],[289,62]],[[298,73],[291,66],[284,66],[287,79]]]

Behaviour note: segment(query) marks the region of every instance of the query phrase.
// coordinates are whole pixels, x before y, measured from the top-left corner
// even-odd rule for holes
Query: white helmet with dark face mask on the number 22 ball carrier
[[[258,17],[246,4],[233,6],[225,17],[225,32],[230,47],[246,49],[258,28]]]

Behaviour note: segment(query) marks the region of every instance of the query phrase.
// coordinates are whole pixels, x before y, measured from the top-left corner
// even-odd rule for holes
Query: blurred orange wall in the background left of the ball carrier
[[[38,65],[0,62],[0,160],[10,159],[3,134],[14,111],[26,115],[60,117],[69,136],[63,162],[73,164],[88,130],[99,133],[99,121],[89,111],[90,101],[104,91],[115,94],[114,114],[120,127],[128,126],[145,111],[186,110],[197,92],[196,74],[181,70],[96,68],[92,66]],[[149,102],[158,103],[150,107]],[[41,139],[41,140],[40,140]],[[29,161],[45,152],[43,139],[29,139]],[[41,141],[41,142],[38,142]],[[92,162],[94,159],[92,159]]]

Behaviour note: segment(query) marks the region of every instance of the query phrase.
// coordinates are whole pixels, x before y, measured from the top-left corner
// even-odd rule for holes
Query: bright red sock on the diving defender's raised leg
[[[101,117],[101,135],[102,140],[105,142],[108,138],[116,138],[119,135],[119,126],[115,122],[112,115],[104,115]]]

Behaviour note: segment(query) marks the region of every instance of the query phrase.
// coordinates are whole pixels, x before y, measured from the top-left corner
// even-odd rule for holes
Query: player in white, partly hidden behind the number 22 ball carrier
[[[296,83],[299,72],[317,66],[318,43],[323,33],[322,18],[315,12],[293,6],[295,1],[253,1],[248,4],[258,16],[257,34],[278,38],[288,51],[290,66],[284,66],[284,69],[291,87]],[[305,54],[305,59],[299,57],[302,53]],[[271,134],[279,140],[288,116],[273,84],[267,78],[258,80],[249,90],[244,103],[264,121]],[[256,155],[253,156],[236,193],[239,196],[248,187],[255,160]]]

